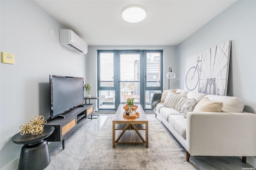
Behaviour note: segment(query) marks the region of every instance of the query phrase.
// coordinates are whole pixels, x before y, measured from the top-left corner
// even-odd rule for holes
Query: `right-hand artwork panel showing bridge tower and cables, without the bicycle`
[[[198,92],[227,95],[231,41],[202,52]]]

